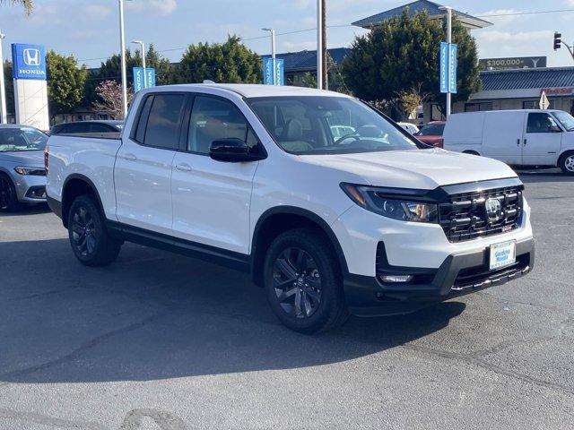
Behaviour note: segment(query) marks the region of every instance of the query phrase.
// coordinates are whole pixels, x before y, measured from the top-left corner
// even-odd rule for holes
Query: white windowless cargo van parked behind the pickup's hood
[[[574,175],[574,117],[561,110],[491,110],[448,116],[445,150]]]

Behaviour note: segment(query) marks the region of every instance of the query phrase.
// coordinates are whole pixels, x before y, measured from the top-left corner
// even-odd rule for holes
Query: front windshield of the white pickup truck
[[[282,96],[248,99],[248,103],[274,141],[294,154],[418,148],[385,117],[356,99]]]

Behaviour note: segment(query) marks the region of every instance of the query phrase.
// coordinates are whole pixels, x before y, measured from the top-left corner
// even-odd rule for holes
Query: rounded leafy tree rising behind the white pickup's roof
[[[197,83],[204,80],[261,83],[261,57],[243,45],[238,36],[229,36],[222,44],[189,45],[178,64],[178,82]]]

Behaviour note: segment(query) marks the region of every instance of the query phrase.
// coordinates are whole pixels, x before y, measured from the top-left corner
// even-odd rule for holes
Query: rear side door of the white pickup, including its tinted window
[[[142,100],[132,133],[124,136],[117,152],[118,221],[171,234],[171,167],[179,148],[186,102],[187,94],[171,92]]]

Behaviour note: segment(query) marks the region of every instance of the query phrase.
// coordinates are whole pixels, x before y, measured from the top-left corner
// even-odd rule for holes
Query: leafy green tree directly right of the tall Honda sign
[[[54,51],[46,55],[48,100],[52,113],[72,112],[82,104],[88,72],[78,67],[74,56],[61,56]]]

